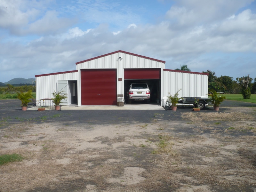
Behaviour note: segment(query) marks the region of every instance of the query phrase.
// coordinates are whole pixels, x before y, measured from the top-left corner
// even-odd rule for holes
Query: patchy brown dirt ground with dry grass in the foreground
[[[222,109],[148,123],[2,117],[0,154],[24,159],[0,166],[0,191],[255,192],[256,108]]]

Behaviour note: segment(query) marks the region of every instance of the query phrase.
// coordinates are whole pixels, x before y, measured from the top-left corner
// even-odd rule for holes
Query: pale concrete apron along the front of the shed
[[[37,110],[39,106],[28,108],[27,110]],[[46,106],[45,110],[55,110],[50,108],[50,106]],[[117,107],[116,105],[70,105],[70,106],[62,106],[61,110],[164,110],[160,104],[127,104],[123,107]]]

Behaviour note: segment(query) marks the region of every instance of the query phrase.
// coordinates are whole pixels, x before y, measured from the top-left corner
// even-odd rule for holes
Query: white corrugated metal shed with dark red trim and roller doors
[[[51,98],[53,91],[62,90],[68,95],[62,105],[116,105],[117,94],[126,96],[134,82],[148,83],[151,102],[179,89],[182,97],[207,96],[207,73],[170,70],[164,65],[165,61],[142,55],[111,52],[77,62],[74,71],[36,75],[36,99]]]

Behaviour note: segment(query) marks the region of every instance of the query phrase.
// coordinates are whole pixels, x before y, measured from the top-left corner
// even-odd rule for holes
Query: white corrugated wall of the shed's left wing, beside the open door
[[[57,91],[58,80],[77,80],[77,72],[46,76],[36,76],[36,100],[51,98]]]

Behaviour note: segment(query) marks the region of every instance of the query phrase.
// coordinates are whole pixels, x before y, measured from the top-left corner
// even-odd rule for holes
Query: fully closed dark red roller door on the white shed
[[[81,69],[82,105],[116,105],[116,69]]]

